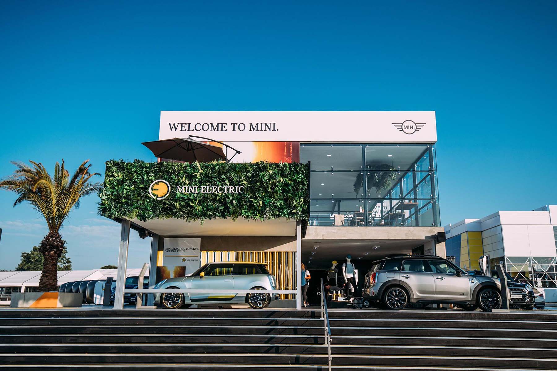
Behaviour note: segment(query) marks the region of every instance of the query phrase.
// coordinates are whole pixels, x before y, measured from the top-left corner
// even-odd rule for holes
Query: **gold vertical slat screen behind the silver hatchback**
[[[267,270],[277,279],[278,290],[295,290],[294,251],[201,251],[201,265],[216,261],[267,264]],[[280,298],[294,299],[294,295],[281,294]]]

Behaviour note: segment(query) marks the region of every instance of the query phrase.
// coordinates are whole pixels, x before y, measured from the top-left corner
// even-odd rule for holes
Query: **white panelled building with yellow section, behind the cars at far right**
[[[557,287],[557,205],[533,211],[497,211],[444,229],[447,256],[455,256],[461,268],[479,269],[478,259],[489,254],[492,269],[504,264],[521,281]]]

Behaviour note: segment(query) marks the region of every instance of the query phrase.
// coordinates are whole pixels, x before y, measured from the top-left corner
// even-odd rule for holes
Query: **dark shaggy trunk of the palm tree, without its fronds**
[[[57,291],[58,286],[58,258],[62,254],[65,241],[58,232],[49,232],[39,245],[39,251],[44,256],[41,280],[38,283],[38,291]]]

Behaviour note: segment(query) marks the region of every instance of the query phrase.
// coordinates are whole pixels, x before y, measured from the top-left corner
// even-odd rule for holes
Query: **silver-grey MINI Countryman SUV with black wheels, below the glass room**
[[[397,256],[374,261],[363,296],[392,310],[409,303],[441,303],[488,311],[501,307],[501,284],[496,278],[467,274],[440,256]]]

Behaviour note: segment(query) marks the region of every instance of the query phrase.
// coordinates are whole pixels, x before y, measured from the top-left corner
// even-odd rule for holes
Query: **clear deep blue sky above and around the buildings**
[[[441,221],[557,203],[556,2],[0,2],[0,177],[12,160],[153,160],[161,110],[437,112]],[[46,233],[0,191],[0,269]],[[118,260],[91,196],[74,269]],[[148,260],[132,234],[129,266]]]

